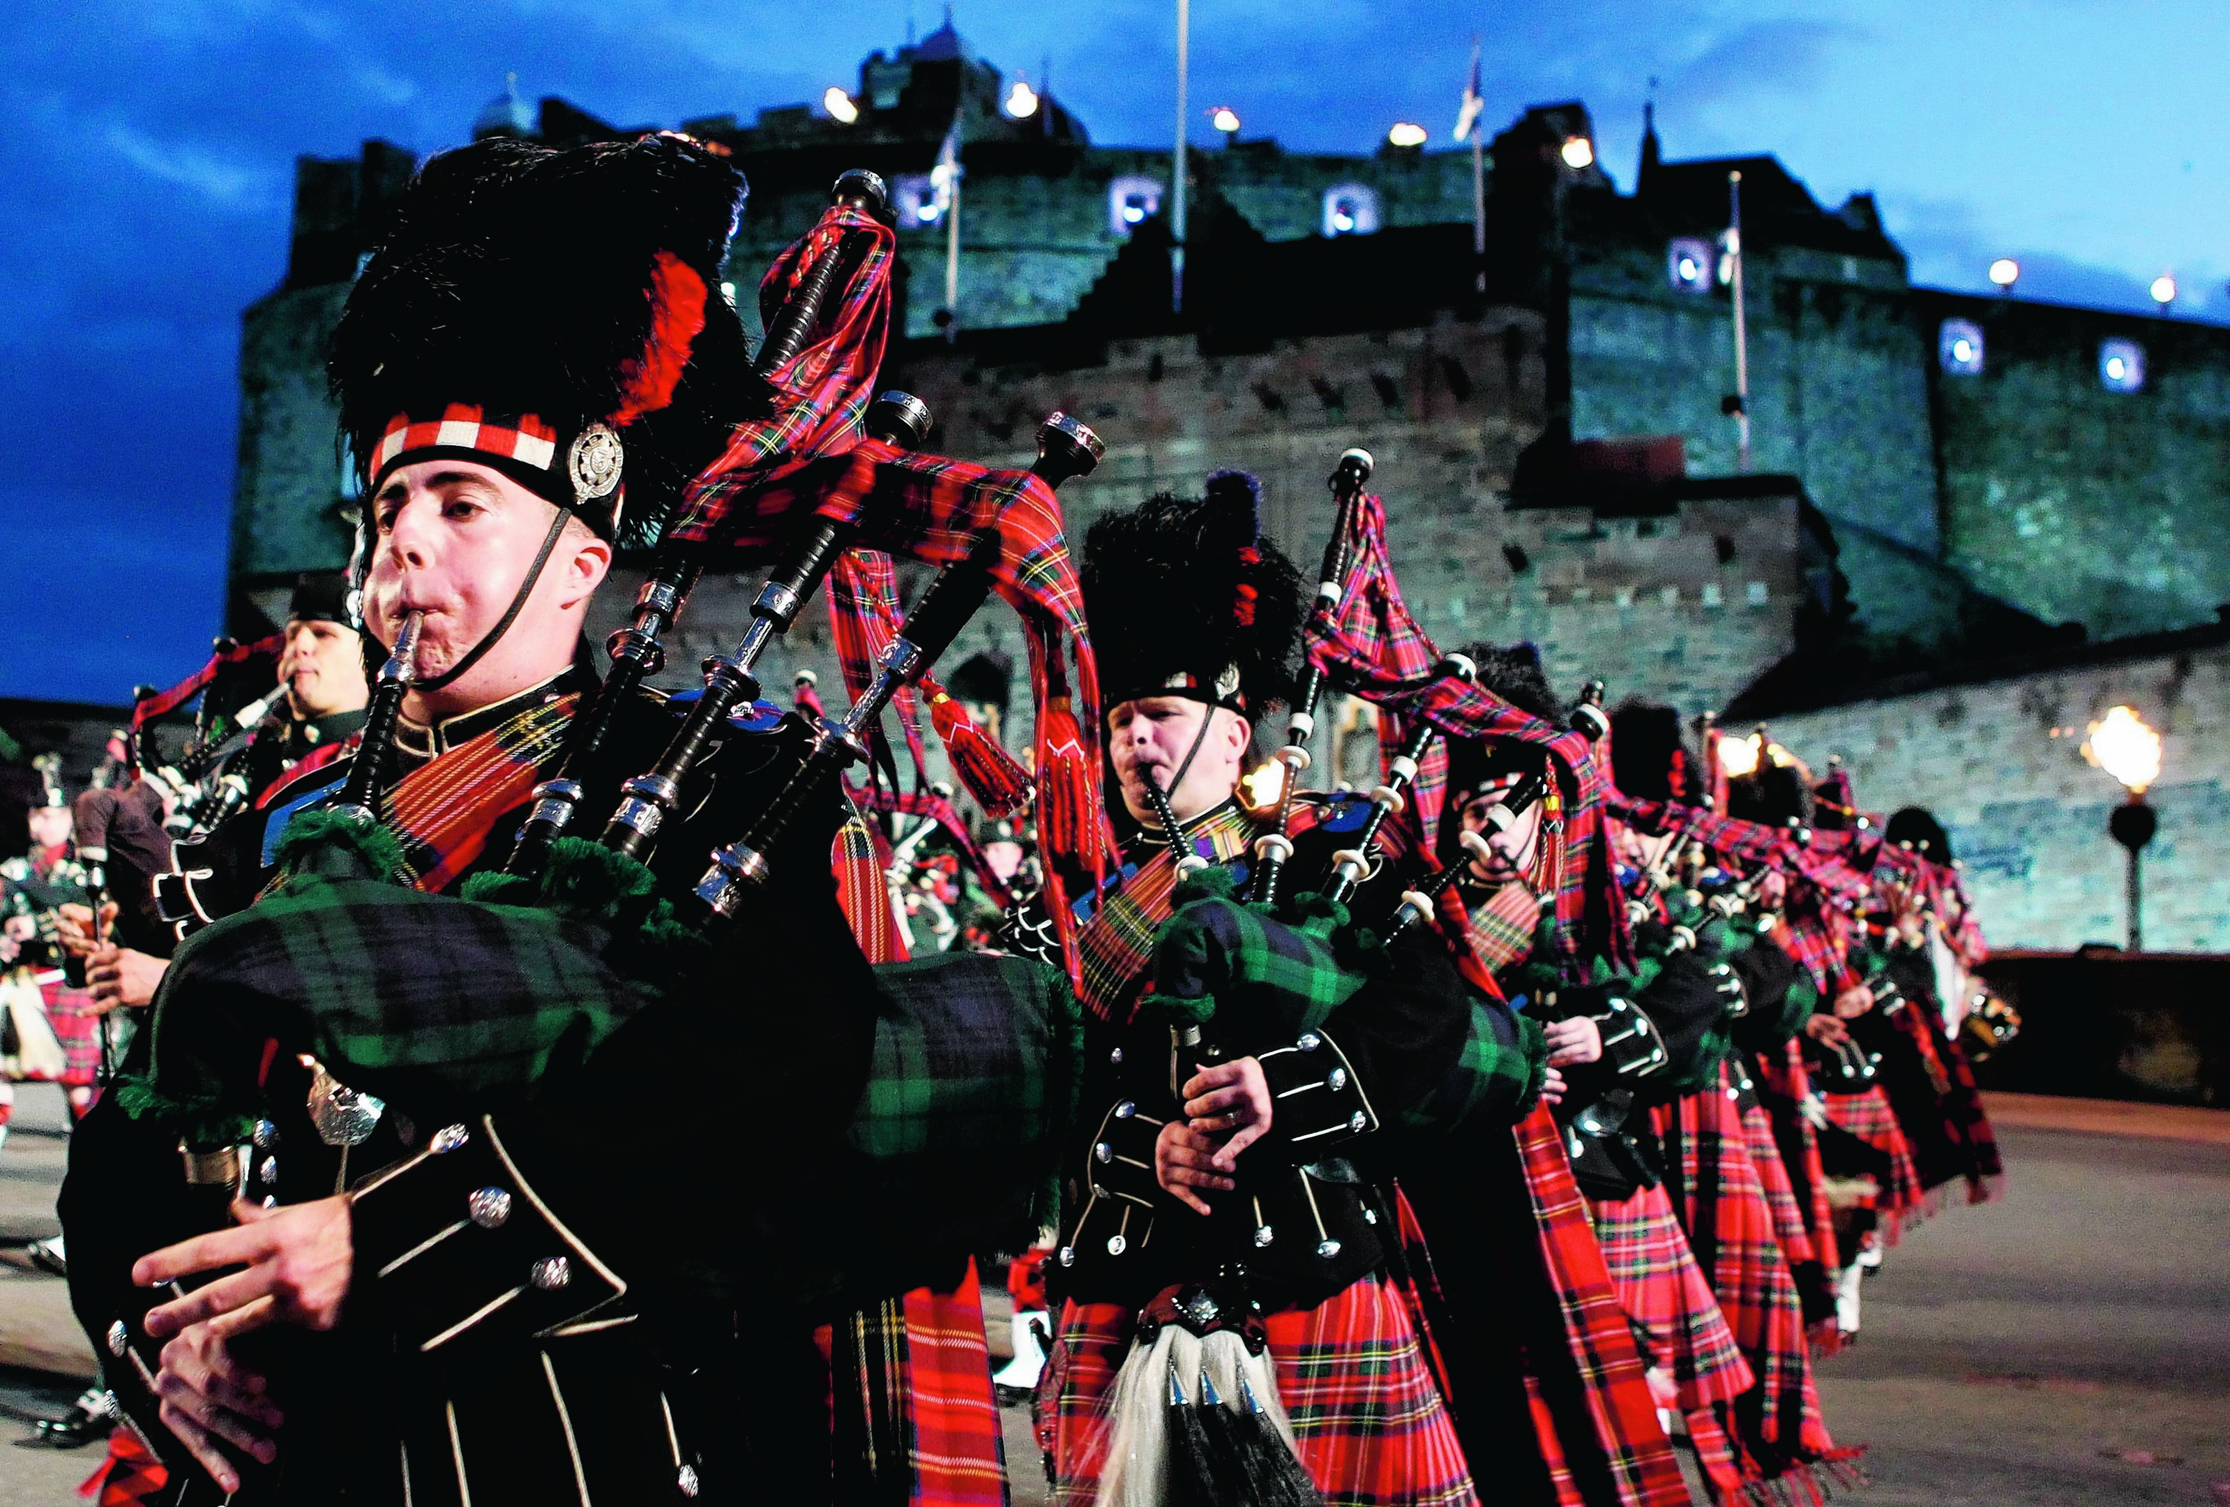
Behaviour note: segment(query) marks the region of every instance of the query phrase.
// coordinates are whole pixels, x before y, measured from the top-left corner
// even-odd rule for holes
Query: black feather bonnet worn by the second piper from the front
[[[1093,522],[1084,615],[1104,707],[1186,696],[1251,716],[1291,696],[1300,571],[1260,513],[1260,484],[1218,470],[1200,499],[1162,493]]]

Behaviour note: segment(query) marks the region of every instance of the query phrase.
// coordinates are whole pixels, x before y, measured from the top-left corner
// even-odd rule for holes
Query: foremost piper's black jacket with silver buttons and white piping
[[[520,709],[586,689],[564,675],[435,729],[404,727],[401,769]],[[622,709],[584,780],[573,832],[595,836],[620,780],[649,769],[682,707]],[[731,729],[698,765],[653,872],[685,894],[796,762],[794,731]],[[332,785],[319,767],[181,852],[196,907],[230,914],[270,876],[277,811]],[[825,1371],[792,1277],[838,1217],[832,1153],[872,1046],[872,979],[836,905],[830,838],[843,798],[776,845],[776,883],[718,947],[705,990],[644,1008],[573,1081],[529,1108],[448,1126],[384,1115],[346,1157],[312,1121],[319,1083],[274,1061],[270,1119],[241,1148],[254,1199],[352,1188],[355,1282],[339,1333],[265,1331],[245,1358],[288,1411],[279,1465],[236,1498],[277,1503],[780,1500],[825,1496]],[[522,803],[466,872],[500,867]],[[459,881],[462,883],[462,881]],[[140,1032],[145,1043],[154,1032]],[[145,1050],[145,1046],[140,1048]],[[132,1063],[127,1063],[129,1070]],[[330,1086],[328,1101],[330,1101]],[[328,1103],[330,1110],[330,1103]],[[138,1384],[158,1367],[134,1293],[145,1251],[219,1228],[232,1188],[192,1188],[174,1139],[116,1095],[80,1124],[62,1186],[71,1302],[105,1380],[181,1478],[187,1462]],[[772,1498],[769,1498],[772,1500]]]

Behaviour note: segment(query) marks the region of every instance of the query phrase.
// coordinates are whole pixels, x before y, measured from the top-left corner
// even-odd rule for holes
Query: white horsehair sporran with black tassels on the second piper
[[[1131,1346],[1104,1416],[1097,1507],[1322,1507],[1293,1456],[1276,1362],[1166,1324]]]

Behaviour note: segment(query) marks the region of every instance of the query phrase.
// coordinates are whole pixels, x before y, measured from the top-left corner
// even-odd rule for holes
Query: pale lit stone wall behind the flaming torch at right
[[[1862,807],[1936,811],[1994,947],[2065,952],[2125,932],[2125,854],[2105,827],[2123,791],[2078,751],[2121,702],[2163,733],[2145,945],[2230,952],[2230,640],[1775,718],[1773,736],[1815,771],[1842,754]]]

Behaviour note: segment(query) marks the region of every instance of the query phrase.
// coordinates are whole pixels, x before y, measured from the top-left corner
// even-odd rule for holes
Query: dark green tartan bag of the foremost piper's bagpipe
[[[564,1083],[638,1012],[685,1001],[711,961],[653,898],[649,869],[595,843],[562,838],[531,892],[491,876],[466,898],[384,878],[388,845],[328,814],[290,825],[283,878],[172,961],[145,1072],[118,1086],[134,1119],[194,1150],[236,1146],[281,1052],[417,1124],[504,1112]],[[874,983],[845,1150],[861,1244],[885,1248],[892,1271],[910,1251],[1026,1244],[1053,1215],[1075,1115],[1068,981],[1030,959],[939,954],[876,968]]]

